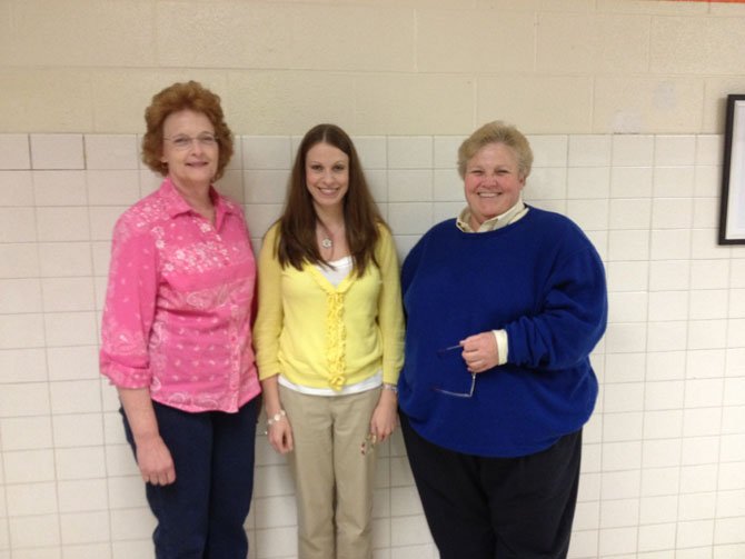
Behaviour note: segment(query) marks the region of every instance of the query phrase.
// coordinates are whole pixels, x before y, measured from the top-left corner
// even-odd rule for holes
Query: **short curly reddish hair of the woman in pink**
[[[219,179],[232,157],[232,132],[225,122],[220,97],[197,81],[173,83],[152,96],[150,107],[145,110],[147,131],[142,137],[142,162],[163,177],[168,174],[168,167],[160,160],[163,154],[163,122],[169,114],[182,110],[205,114],[215,127],[220,148],[215,180]]]

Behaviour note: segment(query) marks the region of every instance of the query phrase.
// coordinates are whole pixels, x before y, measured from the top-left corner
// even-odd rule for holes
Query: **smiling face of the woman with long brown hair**
[[[328,143],[306,153],[306,187],[316,209],[340,208],[349,190],[349,157]]]

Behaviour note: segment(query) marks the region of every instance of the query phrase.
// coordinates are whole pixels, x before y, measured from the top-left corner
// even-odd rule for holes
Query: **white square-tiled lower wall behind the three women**
[[[530,203],[606,260],[609,327],[570,557],[745,557],[745,252],[715,243],[722,137],[535,134]],[[258,247],[297,137],[245,136],[221,188]],[[401,256],[463,202],[459,137],[355,138]],[[98,321],[113,221],[158,181],[133,134],[0,134],[0,559],[152,557]],[[400,436],[376,559],[435,558]],[[257,439],[251,559],[294,558],[287,467]]]

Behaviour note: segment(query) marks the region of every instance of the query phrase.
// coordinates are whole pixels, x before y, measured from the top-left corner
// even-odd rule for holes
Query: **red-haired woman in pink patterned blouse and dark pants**
[[[240,207],[212,182],[232,156],[220,99],[175,83],[145,112],[165,177],[113,231],[101,372],[158,520],[156,556],[245,559],[254,486],[256,264]]]

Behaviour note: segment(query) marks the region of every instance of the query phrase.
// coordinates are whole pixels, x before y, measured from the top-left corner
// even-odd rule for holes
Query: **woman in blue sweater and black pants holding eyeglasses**
[[[605,272],[574,222],[523,202],[532,163],[514,127],[476,130],[458,151],[467,207],[403,267],[401,427],[441,559],[569,546]]]

